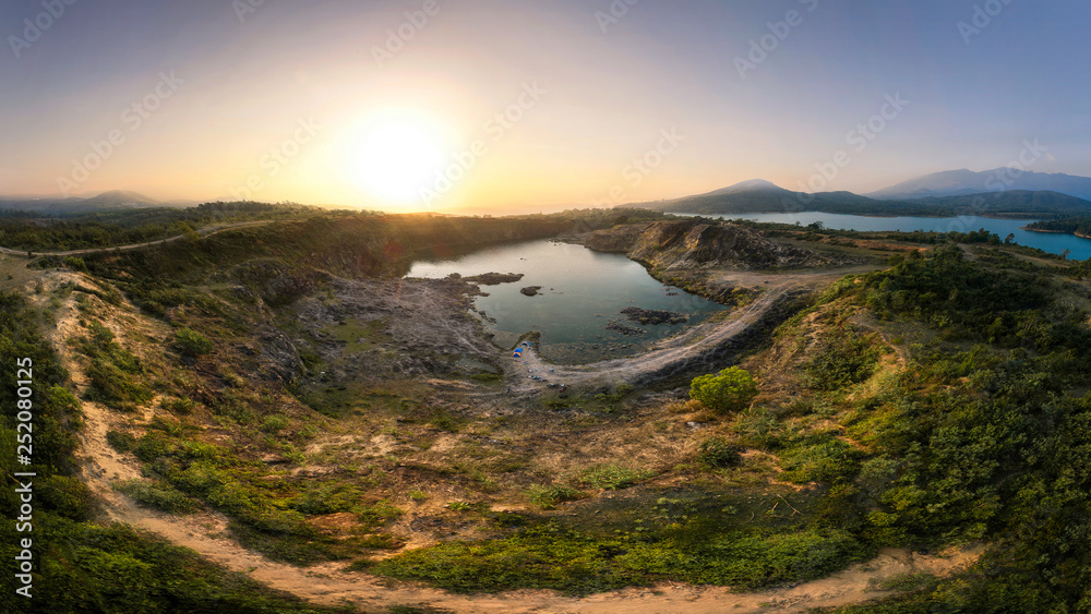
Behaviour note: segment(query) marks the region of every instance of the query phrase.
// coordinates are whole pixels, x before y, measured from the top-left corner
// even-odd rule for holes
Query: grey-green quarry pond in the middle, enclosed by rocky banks
[[[497,344],[514,346],[519,336],[537,330],[541,333],[542,356],[554,362],[594,362],[642,353],[656,341],[726,309],[660,284],[623,254],[603,254],[556,241],[493,246],[445,261],[418,261],[406,276],[443,278],[452,273],[463,277],[523,273],[523,279],[513,284],[481,286],[489,296],[476,297],[477,309],[495,318],[487,326]],[[528,286],[541,286],[540,294],[519,292]],[[684,313],[690,320],[685,324],[642,326],[621,314],[628,306]],[[608,330],[611,321],[646,334],[624,336]]]

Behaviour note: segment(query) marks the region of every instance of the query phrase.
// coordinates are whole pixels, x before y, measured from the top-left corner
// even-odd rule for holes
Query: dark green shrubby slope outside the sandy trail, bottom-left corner
[[[289,595],[269,591],[240,574],[227,573],[194,553],[124,526],[93,521],[96,509],[86,487],[74,475],[74,431],[82,418],[76,399],[63,384],[67,374],[38,328],[48,315],[27,306],[14,293],[0,294],[0,365],[4,382],[15,381],[14,358],[33,360],[34,461],[14,466],[16,397],[12,386],[0,388],[0,442],[5,478],[0,509],[19,516],[16,471],[34,471],[34,530],[16,533],[13,522],[0,530],[0,555],[12,561],[17,540],[31,538],[37,566],[33,599],[11,590],[0,595],[4,612],[332,612],[310,607]],[[10,583],[8,586],[11,586]]]

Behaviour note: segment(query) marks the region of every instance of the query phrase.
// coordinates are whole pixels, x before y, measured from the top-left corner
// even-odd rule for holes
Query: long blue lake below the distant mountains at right
[[[913,230],[924,230],[931,232],[969,232],[984,228],[990,232],[999,234],[1000,239],[1009,233],[1015,234],[1015,241],[1020,245],[1038,248],[1040,250],[1059,254],[1065,250],[1070,250],[1068,257],[1072,260],[1087,260],[1091,257],[1091,239],[1083,239],[1075,234],[1059,234],[1054,232],[1030,232],[1020,230],[1033,220],[1029,219],[996,219],[991,217],[867,217],[859,215],[843,215],[832,213],[803,212],[803,213],[766,213],[766,214],[727,214],[706,215],[720,219],[752,219],[754,221],[772,221],[779,224],[795,224],[796,221],[806,226],[820,221],[826,228],[839,230],[902,230],[911,232]]]

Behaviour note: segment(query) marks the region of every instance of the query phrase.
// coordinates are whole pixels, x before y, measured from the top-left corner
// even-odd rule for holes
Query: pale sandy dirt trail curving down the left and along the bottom
[[[49,286],[72,280],[73,276],[72,273],[58,272],[45,274],[49,278]],[[777,296],[776,292],[769,294],[766,301],[771,301]],[[766,304],[768,303],[758,301],[751,306],[751,311],[757,313],[767,309],[763,308]],[[82,388],[86,386],[86,378],[79,362],[74,360],[72,349],[65,344],[71,336],[81,334],[77,317],[74,299],[69,298],[58,310],[58,326],[51,336],[51,342],[72,374],[76,387]],[[721,335],[727,336],[731,330],[735,328],[728,327]],[[624,361],[611,362],[621,364]],[[828,578],[755,593],[735,594],[720,587],[664,583],[586,598],[540,590],[520,590],[496,595],[458,595],[345,571],[345,565],[338,563],[310,568],[276,563],[225,537],[227,518],[221,514],[171,516],[139,507],[113,491],[110,483],[139,478],[140,467],[135,459],[120,455],[106,441],[106,433],[130,420],[131,414],[121,416],[94,402],[84,402],[83,409],[86,426],[80,434],[82,479],[103,502],[103,510],[109,520],[161,535],[178,545],[194,550],[227,569],[247,574],[254,580],[315,604],[347,605],[360,612],[386,612],[392,605],[430,606],[439,611],[466,614],[803,612],[808,607],[837,606],[886,597],[891,593],[871,588],[874,579],[911,573],[945,575],[968,567],[980,554],[980,549],[952,552],[948,556],[884,550],[875,559],[854,565]],[[146,410],[137,420],[146,422],[153,414],[154,410]]]

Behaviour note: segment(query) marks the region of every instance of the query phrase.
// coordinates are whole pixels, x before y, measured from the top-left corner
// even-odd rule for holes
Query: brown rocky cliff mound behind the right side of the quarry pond
[[[770,241],[755,230],[726,221],[669,220],[615,226],[592,232],[585,244],[602,252],[624,252],[659,270],[832,264],[828,256]]]

